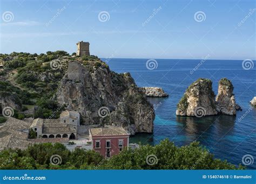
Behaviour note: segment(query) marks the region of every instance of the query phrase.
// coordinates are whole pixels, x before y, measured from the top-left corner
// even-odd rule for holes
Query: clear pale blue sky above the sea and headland
[[[254,0],[0,0],[0,53],[255,60]]]

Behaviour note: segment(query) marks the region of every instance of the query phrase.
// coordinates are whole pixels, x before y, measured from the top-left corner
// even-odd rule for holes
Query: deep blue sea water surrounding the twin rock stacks
[[[149,98],[154,105],[161,103],[156,109],[154,132],[152,135],[138,134],[130,142],[154,145],[169,138],[182,146],[197,140],[215,158],[226,159],[235,165],[242,164],[242,157],[251,154],[255,161],[247,167],[256,169],[256,108],[250,110],[249,103],[256,96],[256,62],[253,69],[245,70],[240,60],[206,60],[191,74],[201,60],[156,60],[158,67],[153,70],[147,69],[147,59],[110,59],[107,62],[117,73],[130,72],[139,87],[161,87],[170,95],[168,98]],[[218,81],[223,77],[230,79],[242,111],[238,111],[237,116],[176,117],[176,104],[186,88],[199,77],[212,80],[215,95]],[[244,114],[247,115],[239,122]]]

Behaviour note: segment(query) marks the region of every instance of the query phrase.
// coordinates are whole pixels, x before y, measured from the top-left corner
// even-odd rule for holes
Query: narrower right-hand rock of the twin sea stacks
[[[223,78],[219,81],[216,105],[220,114],[232,116],[237,114],[237,103],[235,103],[233,89],[234,87],[230,80]]]

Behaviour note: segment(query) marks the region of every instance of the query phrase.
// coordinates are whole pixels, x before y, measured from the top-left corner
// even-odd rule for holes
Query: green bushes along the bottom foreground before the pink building
[[[59,165],[52,165],[51,156],[58,154]],[[11,157],[11,159],[10,159]],[[112,158],[103,158],[95,151],[76,148],[70,152],[62,144],[35,144],[26,150],[0,152],[0,169],[244,169],[214,159],[206,148],[193,142],[177,147],[165,139],[156,146],[140,146],[123,150]]]

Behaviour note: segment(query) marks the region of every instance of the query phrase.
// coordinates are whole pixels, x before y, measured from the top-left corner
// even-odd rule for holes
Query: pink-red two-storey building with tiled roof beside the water
[[[89,130],[92,149],[103,157],[118,154],[129,145],[129,134],[122,127],[107,126]]]

